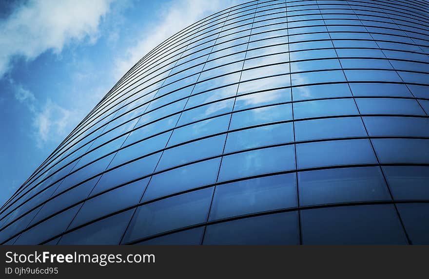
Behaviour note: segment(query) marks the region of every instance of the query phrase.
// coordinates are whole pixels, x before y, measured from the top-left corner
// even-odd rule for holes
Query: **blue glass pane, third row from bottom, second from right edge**
[[[296,159],[298,168],[377,163],[367,139],[297,144]]]

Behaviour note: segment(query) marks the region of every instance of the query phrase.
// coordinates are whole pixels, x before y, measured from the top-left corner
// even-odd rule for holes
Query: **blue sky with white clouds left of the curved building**
[[[138,59],[186,26],[235,4],[1,1],[0,205]]]

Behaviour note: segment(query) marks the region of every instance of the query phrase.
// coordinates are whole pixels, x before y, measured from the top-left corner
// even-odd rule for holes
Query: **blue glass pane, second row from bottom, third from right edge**
[[[217,185],[209,220],[297,206],[296,174]]]

